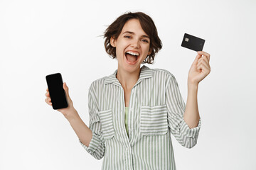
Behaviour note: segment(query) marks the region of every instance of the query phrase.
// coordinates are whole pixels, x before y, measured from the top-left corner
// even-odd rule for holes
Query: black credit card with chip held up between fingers
[[[206,40],[185,33],[181,46],[198,52],[203,50],[203,45],[205,41]]]

